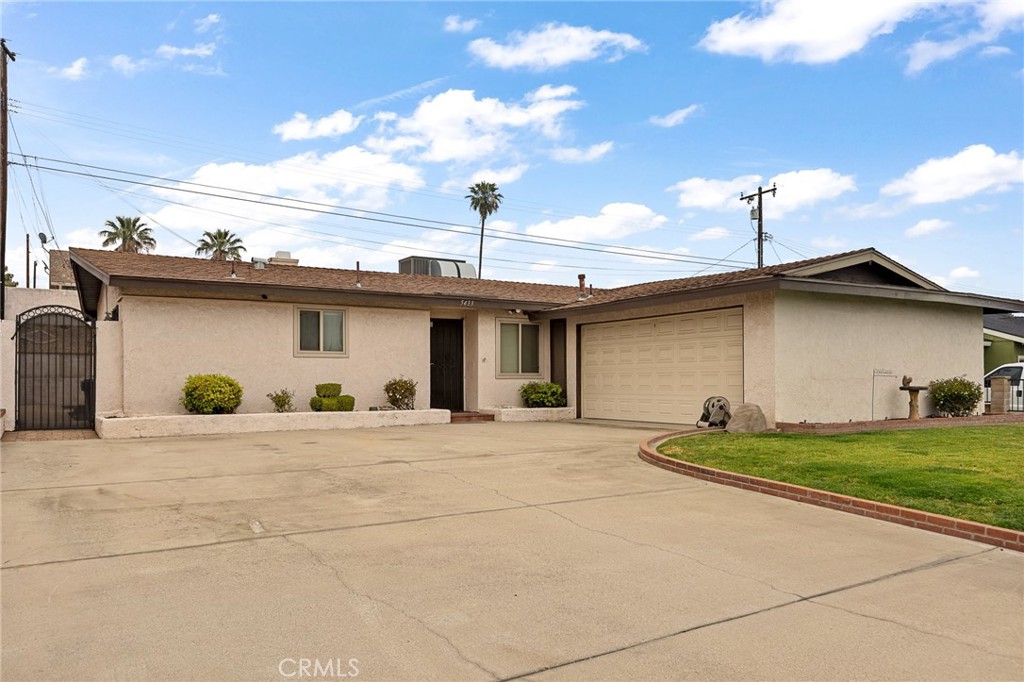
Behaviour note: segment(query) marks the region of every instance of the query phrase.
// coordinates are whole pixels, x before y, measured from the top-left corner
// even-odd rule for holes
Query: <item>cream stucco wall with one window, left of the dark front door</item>
[[[347,357],[296,357],[292,304],[125,295],[120,306],[128,416],[183,414],[185,378],[206,373],[242,383],[242,413],[270,412],[266,394],[282,388],[307,412],[314,385],[330,381],[362,410],[384,403],[383,385],[398,375],[419,382],[417,408],[429,406],[426,310],[347,307]]]

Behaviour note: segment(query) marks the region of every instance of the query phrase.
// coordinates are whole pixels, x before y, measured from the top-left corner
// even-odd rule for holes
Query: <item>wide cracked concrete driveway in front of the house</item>
[[[647,435],[4,443],[0,675],[1024,679],[1024,555],[669,473]]]

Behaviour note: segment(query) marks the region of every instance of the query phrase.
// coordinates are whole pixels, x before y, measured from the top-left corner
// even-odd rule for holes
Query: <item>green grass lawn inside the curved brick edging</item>
[[[713,434],[658,452],[736,473],[1024,530],[1024,425]]]

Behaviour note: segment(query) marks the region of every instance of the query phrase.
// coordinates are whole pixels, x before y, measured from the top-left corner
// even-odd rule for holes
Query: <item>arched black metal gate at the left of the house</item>
[[[91,429],[96,413],[96,327],[81,311],[43,305],[17,316],[14,428]]]

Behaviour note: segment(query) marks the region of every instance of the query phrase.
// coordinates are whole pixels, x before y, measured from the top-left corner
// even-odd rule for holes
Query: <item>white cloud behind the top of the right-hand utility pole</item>
[[[668,190],[679,193],[680,208],[734,211],[746,208],[739,201],[740,195],[750,194],[762,184],[761,180],[760,175],[740,175],[731,180],[691,177],[677,182]],[[772,185],[777,186],[778,191],[767,200],[770,208],[766,210],[776,217],[857,188],[852,175],[841,175],[830,168],[780,173],[763,184],[765,187]]]

